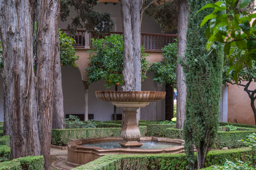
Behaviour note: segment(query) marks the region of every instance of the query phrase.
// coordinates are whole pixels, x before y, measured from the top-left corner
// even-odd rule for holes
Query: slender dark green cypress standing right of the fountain
[[[201,29],[200,24],[212,9],[197,13],[208,3],[214,3],[214,0],[188,0],[186,62],[183,70],[187,85],[184,139],[190,169],[195,168],[194,147],[197,149],[197,168],[203,168],[219,125],[223,45],[214,44],[209,52],[206,51],[207,26]]]

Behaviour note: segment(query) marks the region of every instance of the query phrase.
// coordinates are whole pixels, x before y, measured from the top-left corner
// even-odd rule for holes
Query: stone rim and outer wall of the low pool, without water
[[[163,153],[184,153],[184,140],[180,139],[169,139],[164,137],[141,137],[140,141],[156,141],[156,142],[169,142],[173,143],[176,146],[172,148],[165,149],[102,149],[99,147],[88,147],[83,146],[82,144],[88,144],[92,142],[111,142],[122,140],[121,137],[98,137],[98,138],[88,138],[88,139],[74,139],[68,143],[68,161],[67,163],[72,166],[80,166],[86,164],[95,159],[98,159],[104,155],[111,154],[163,154]]]

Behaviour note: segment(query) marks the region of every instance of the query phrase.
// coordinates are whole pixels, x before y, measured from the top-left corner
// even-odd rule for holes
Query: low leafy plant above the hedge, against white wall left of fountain
[[[80,118],[75,115],[69,115],[69,118],[65,118],[65,128],[74,129],[74,128],[96,128],[97,124],[91,120],[86,122],[80,121]]]

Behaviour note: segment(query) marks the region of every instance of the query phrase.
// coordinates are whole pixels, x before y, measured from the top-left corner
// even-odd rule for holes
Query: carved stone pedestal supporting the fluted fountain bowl
[[[142,143],[137,141],[141,135],[136,114],[140,107],[145,107],[150,102],[112,102],[112,104],[123,108],[124,122],[121,137],[124,141],[119,142],[119,144],[124,147],[140,147]]]

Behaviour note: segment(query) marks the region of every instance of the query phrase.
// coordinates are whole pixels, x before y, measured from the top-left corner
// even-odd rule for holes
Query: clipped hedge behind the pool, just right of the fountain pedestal
[[[146,136],[164,137],[167,128],[174,128],[176,125],[169,124],[144,124],[139,123],[141,126],[146,126]]]

